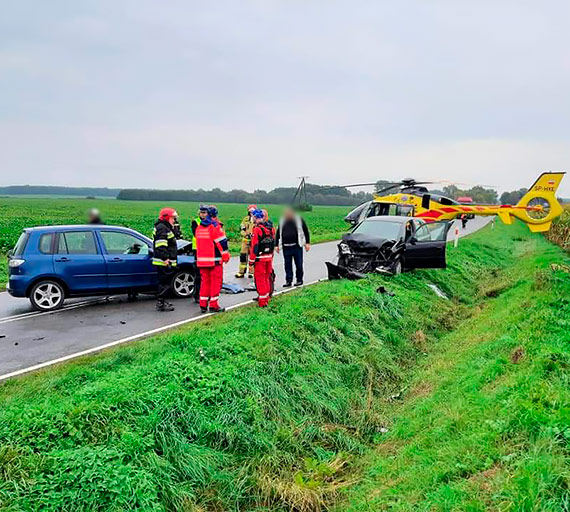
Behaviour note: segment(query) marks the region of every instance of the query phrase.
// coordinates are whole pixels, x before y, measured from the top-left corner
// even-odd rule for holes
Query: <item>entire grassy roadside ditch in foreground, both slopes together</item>
[[[0,507],[319,510],[357,484],[363,510],[477,510],[504,485],[516,510],[556,503],[561,251],[498,225],[450,252],[447,271],[323,283],[6,383]]]

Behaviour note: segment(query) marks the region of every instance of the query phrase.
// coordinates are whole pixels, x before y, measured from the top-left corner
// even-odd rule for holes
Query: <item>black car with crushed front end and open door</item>
[[[370,217],[343,235],[329,279],[360,279],[366,274],[400,274],[415,268],[445,268],[451,222],[426,223],[416,217]]]

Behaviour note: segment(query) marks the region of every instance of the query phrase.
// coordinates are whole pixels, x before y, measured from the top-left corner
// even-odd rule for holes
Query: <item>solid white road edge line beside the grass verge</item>
[[[294,290],[298,290],[300,288],[304,288],[306,286],[311,286],[313,284],[321,282],[323,279],[317,279],[316,281],[311,281],[309,283],[305,283],[301,286],[297,286],[295,288],[289,288],[287,290],[279,290],[276,291],[273,296],[281,295],[283,293],[291,292]],[[240,308],[243,306],[247,306],[248,304],[253,304],[253,299],[246,300],[244,302],[240,302],[239,304],[234,304],[233,306],[228,306],[226,311],[231,311],[232,309]],[[164,331],[168,331],[170,329],[174,329],[176,327],[180,327],[181,325],[189,324],[192,322],[196,322],[198,320],[202,320],[204,318],[208,318],[214,316],[216,313],[206,313],[200,316],[195,316],[192,318],[187,318],[186,320],[180,320],[179,322],[174,322],[172,324],[164,325],[162,327],[157,327],[156,329],[151,329],[150,331],[141,332],[139,334],[133,334],[132,336],[128,336],[126,338],[121,338],[120,340],[111,341],[109,343],[105,343],[103,345],[99,345],[97,347],[88,348],[86,350],[82,350],[80,352],[75,352],[74,354],[69,354],[67,356],[58,357],[57,359],[52,359],[50,361],[46,361],[44,363],[35,364],[33,366],[28,366],[27,368],[22,368],[21,370],[16,370],[10,373],[6,373],[4,375],[0,375],[0,381],[10,379],[12,377],[17,377],[19,375],[23,375],[25,373],[33,372],[36,370],[41,370],[42,368],[47,368],[48,366],[53,366],[55,364],[64,363],[66,361],[70,361],[71,359],[76,359],[78,357],[87,356],[89,354],[95,354],[96,352],[101,352],[107,348],[116,347],[117,345],[122,345],[124,343],[128,343],[129,341],[134,341],[140,338],[146,338],[148,336],[152,336],[153,334],[158,334]]]

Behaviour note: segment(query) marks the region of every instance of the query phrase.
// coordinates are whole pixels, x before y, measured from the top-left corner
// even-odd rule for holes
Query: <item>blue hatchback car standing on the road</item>
[[[194,293],[192,244],[178,241],[172,292]],[[118,226],[44,226],[24,229],[8,256],[8,292],[28,297],[39,311],[60,308],[67,297],[153,293],[152,240]]]

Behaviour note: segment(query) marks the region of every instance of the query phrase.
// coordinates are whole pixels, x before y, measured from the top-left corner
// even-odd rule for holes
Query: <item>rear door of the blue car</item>
[[[72,293],[104,293],[107,290],[105,259],[91,230],[59,232],[53,266]]]

